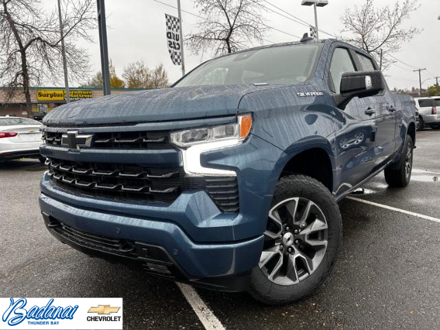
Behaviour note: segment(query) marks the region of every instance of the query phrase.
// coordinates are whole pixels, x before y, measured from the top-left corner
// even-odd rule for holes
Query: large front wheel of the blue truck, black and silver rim
[[[259,265],[250,294],[280,305],[314,292],[333,267],[342,239],[342,219],[331,192],[305,175],[276,185]]]

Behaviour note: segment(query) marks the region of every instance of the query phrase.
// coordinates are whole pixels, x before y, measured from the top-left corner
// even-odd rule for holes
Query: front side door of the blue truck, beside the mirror
[[[340,94],[342,74],[361,71],[355,53],[348,47],[336,47],[331,55],[328,83],[331,93]],[[366,113],[364,100],[353,98],[342,110],[343,120],[336,122],[336,148],[338,149],[339,187],[337,195],[368,177],[375,166],[375,114]],[[374,105],[373,105],[374,107]]]

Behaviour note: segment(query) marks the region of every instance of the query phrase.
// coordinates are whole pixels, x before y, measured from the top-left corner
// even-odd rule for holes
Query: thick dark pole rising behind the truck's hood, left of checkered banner
[[[101,52],[102,90],[104,91],[104,95],[110,95],[109,47],[107,45],[107,26],[105,23],[104,0],[97,0],[96,4],[98,5],[98,30]]]

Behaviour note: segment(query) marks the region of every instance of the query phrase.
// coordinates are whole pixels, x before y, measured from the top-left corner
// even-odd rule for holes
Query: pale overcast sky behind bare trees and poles
[[[177,0],[160,0],[172,6],[177,6]],[[278,7],[294,14],[296,17],[303,19],[309,23],[314,22],[314,13],[312,7],[300,5],[301,0],[268,0]],[[56,0],[44,0],[47,8],[54,7]],[[362,5],[365,0],[329,0],[329,5],[324,8],[318,8],[319,27],[331,34],[339,34],[342,29],[340,16],[347,6]],[[378,6],[390,4],[393,5],[395,0],[375,0]],[[421,34],[415,36],[412,41],[402,45],[399,53],[395,56],[403,63],[396,63],[391,69],[388,69],[388,85],[391,88],[398,87],[418,87],[419,77],[413,69],[419,67],[425,68],[422,73],[423,87],[434,83],[434,76],[440,76],[440,21],[437,17],[440,15],[439,0],[419,0],[421,5],[417,12],[412,13],[410,20],[406,22],[406,26],[413,26],[421,31]],[[159,63],[163,63],[170,82],[174,82],[181,76],[180,67],[173,65],[168,56],[165,37],[165,13],[177,16],[177,10],[170,6],[158,3],[154,0],[107,0],[105,2],[107,12],[107,37],[109,41],[109,55],[113,60],[118,76],[122,75],[123,68],[129,63],[137,60],[143,60],[148,67],[154,67]],[[266,4],[267,5],[267,4]],[[54,7],[55,8],[55,7]],[[194,8],[193,1],[181,0],[182,10],[198,14]],[[262,13],[267,19],[267,25],[278,30],[302,36],[308,32],[307,28],[294,21],[290,21],[273,12]],[[184,34],[195,32],[195,23],[198,18],[182,13]],[[91,63],[94,71],[100,70],[100,50],[98,43],[98,30],[92,32],[96,34],[95,43],[84,43],[78,41],[83,47],[87,47],[91,54]],[[320,34],[320,38],[329,36]],[[438,39],[438,40],[437,40]],[[282,43],[286,41],[296,41],[294,36],[269,30],[265,35],[265,42]],[[251,46],[251,45],[250,45]],[[203,59],[208,59],[208,55],[204,58],[194,56],[186,51],[186,67],[187,71],[198,65]]]

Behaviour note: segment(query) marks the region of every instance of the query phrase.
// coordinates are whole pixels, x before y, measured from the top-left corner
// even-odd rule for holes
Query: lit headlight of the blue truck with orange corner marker
[[[239,115],[236,123],[173,132],[170,140],[181,149],[187,174],[236,175],[233,170],[201,166],[200,155],[206,151],[240,144],[249,136],[251,128],[252,115]]]

